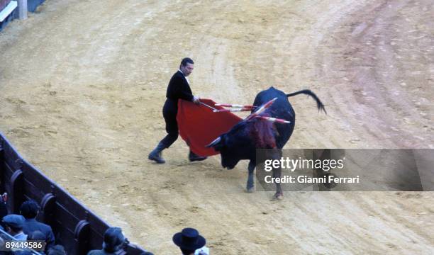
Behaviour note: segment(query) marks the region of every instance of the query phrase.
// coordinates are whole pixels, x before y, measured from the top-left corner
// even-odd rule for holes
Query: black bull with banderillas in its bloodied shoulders
[[[286,142],[288,142],[289,137],[291,137],[295,125],[295,113],[291,103],[288,101],[288,97],[298,94],[311,96],[316,101],[318,111],[324,111],[325,113],[323,103],[321,103],[316,94],[313,94],[313,92],[308,89],[292,94],[284,94],[284,92],[270,87],[257,94],[253,105],[259,108],[262,104],[267,103],[273,98],[277,98],[277,100],[260,115],[289,120],[291,123],[272,123],[260,118],[242,120],[228,132],[207,145],[207,147],[213,147],[216,151],[221,153],[221,165],[223,168],[233,169],[240,160],[250,160],[248,166],[249,176],[247,179],[247,192],[254,191],[253,173],[256,166],[256,149],[274,149],[272,150],[272,159],[280,159],[280,157],[282,157],[281,149]],[[252,113],[253,112],[254,111],[252,111]],[[280,177],[281,172],[280,168],[273,169],[273,177]],[[282,196],[282,187],[280,183],[276,183],[276,194],[274,198],[282,198]]]

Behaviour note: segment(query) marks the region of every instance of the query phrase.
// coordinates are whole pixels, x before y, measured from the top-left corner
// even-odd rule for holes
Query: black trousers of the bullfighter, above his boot
[[[166,122],[167,135],[161,140],[160,145],[163,149],[169,148],[177,139],[179,135],[177,123],[178,102],[167,98],[165,106],[163,106],[163,117]]]

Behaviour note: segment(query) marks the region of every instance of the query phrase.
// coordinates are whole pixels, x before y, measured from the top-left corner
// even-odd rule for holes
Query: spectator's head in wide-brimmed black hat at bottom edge
[[[199,232],[194,228],[184,228],[182,232],[174,234],[172,238],[174,244],[179,246],[182,254],[194,254],[196,249],[203,247],[206,244],[206,239],[199,235]]]

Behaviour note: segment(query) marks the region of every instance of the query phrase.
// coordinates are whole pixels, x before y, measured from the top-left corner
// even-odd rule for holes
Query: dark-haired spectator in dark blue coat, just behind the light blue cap
[[[26,222],[23,225],[23,232],[30,234],[36,230],[43,232],[46,245],[45,251],[48,251],[52,246],[55,245],[55,237],[52,229],[49,225],[35,220],[35,217],[39,213],[39,205],[35,200],[28,200],[21,205],[20,213],[26,218]]]

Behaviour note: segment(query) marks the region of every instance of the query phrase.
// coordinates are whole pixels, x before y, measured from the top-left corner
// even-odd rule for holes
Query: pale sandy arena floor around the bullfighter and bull
[[[104,2],[104,3],[103,3]],[[103,4],[101,4],[103,3]],[[0,33],[0,131],[128,238],[177,254],[196,227],[212,254],[434,254],[434,193],[245,193],[247,164],[190,164],[165,135],[167,83],[195,61],[195,94],[291,98],[287,148],[434,148],[432,0],[47,0]]]

